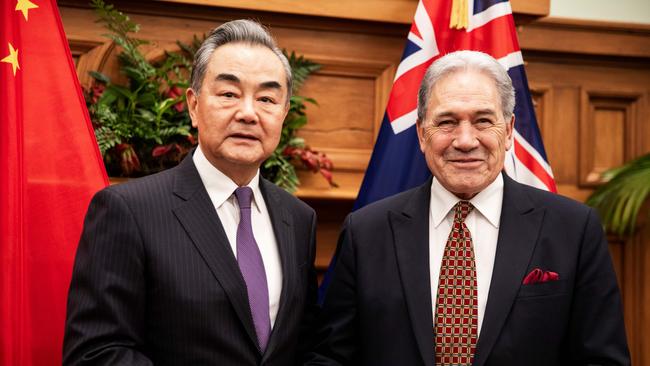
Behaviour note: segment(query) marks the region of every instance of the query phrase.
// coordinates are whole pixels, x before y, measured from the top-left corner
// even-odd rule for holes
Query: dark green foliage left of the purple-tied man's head
[[[109,31],[105,36],[121,47],[120,70],[129,80],[122,86],[91,73],[96,83],[88,93],[88,109],[109,175],[146,175],[177,164],[195,143],[182,92],[192,55],[166,53],[161,62],[151,63],[140,51],[147,42],[130,35],[138,32],[137,24],[102,0],[91,5]],[[154,154],[169,146],[173,149],[165,154]]]

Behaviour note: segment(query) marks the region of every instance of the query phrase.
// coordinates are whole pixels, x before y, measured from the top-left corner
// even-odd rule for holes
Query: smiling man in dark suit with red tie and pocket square
[[[492,57],[432,64],[416,128],[433,177],[347,217],[306,364],[630,364],[594,211],[502,173],[513,110]]]

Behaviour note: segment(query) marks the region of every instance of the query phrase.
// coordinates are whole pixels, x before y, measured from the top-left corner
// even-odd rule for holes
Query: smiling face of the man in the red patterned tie
[[[470,199],[503,169],[513,126],[514,116],[509,121],[503,117],[494,80],[467,70],[433,86],[417,133],[431,173],[447,190]]]

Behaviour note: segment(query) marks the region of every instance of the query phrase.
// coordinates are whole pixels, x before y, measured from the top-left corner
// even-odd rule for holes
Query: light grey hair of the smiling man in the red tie
[[[428,103],[434,85],[447,75],[459,71],[474,70],[490,76],[495,83],[501,110],[506,122],[515,110],[515,88],[506,69],[492,56],[479,51],[456,51],[437,59],[424,74],[418,91],[418,123],[427,115]]]

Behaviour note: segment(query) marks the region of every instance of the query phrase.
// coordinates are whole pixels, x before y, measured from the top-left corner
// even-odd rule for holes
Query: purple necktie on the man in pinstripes
[[[251,226],[251,197],[250,187],[239,187],[235,190],[239,203],[239,226],[237,226],[237,262],[246,281],[248,301],[255,324],[255,332],[262,352],[266,349],[271,334],[271,319],[269,315],[269,287],[266,283],[266,272],[262,254],[253,236]]]

